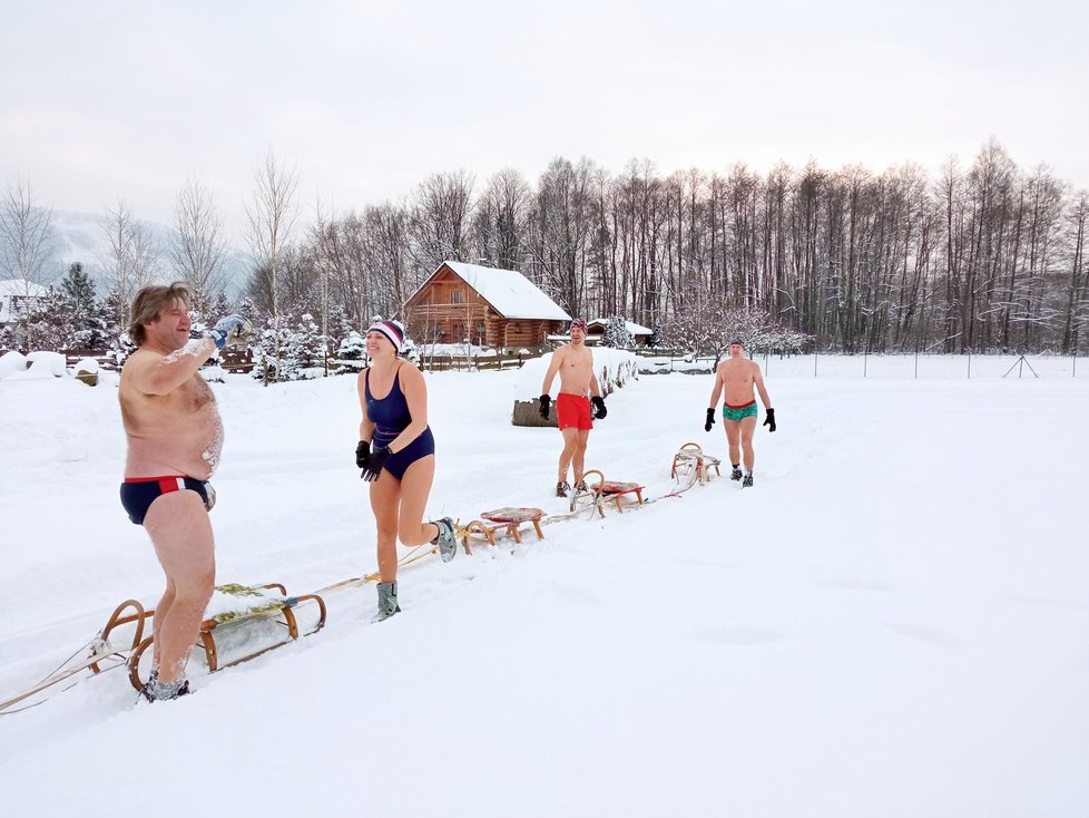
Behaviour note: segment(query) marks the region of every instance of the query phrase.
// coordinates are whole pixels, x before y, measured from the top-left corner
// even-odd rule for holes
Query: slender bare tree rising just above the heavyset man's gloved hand
[[[170,260],[175,274],[193,293],[190,306],[207,319],[208,309],[227,284],[227,242],[212,192],[197,178],[178,189],[174,228]]]

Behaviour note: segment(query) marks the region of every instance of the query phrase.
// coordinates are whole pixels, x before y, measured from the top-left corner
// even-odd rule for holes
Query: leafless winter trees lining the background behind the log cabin
[[[247,305],[274,322],[320,317],[334,340],[399,315],[453,260],[518,270],[572,315],[622,315],[664,342],[705,338],[684,328],[744,312],[843,352],[1086,345],[1089,194],[1047,167],[1019,167],[994,140],[936,176],[912,164],[663,175],[646,160],[614,174],[587,158],[557,158],[534,183],[516,169],[482,183],[443,172],[402,202],[318,205],[305,225],[296,186],[272,153],[255,172]],[[199,183],[183,193],[178,246],[156,273],[212,304],[224,283],[222,220]],[[119,251],[107,277],[121,303],[148,276],[122,257],[118,222],[136,220],[119,210],[108,213]],[[134,253],[147,257],[146,244]]]

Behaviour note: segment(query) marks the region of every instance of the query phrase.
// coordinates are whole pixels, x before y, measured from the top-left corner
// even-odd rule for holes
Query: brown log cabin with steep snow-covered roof
[[[424,343],[542,347],[571,320],[521,273],[444,261],[404,303],[409,334]]]

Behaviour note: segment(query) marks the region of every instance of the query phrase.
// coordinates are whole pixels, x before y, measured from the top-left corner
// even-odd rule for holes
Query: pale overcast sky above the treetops
[[[992,136],[1089,187],[1089,2],[892,6],[0,0],[0,183],[169,223],[195,175],[236,235],[269,147],[304,217],[556,156],[933,169]]]

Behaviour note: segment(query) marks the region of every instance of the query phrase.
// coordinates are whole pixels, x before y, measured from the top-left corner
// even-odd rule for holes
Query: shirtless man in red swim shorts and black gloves
[[[582,473],[586,460],[586,442],[593,428],[591,415],[598,420],[608,415],[601,387],[593,374],[593,353],[586,345],[586,321],[580,318],[571,321],[571,342],[565,343],[552,353],[552,362],[541,386],[542,418],[548,418],[551,398],[548,390],[552,387],[556,373],[560,376],[560,392],[556,398],[556,425],[563,432],[563,451],[560,452],[560,467],[556,483],[556,496],[567,497],[571,484],[567,481],[567,470],[573,464],[575,488],[586,490]],[[592,398],[587,398],[592,395]],[[590,409],[593,403],[593,409]]]

